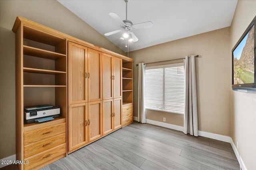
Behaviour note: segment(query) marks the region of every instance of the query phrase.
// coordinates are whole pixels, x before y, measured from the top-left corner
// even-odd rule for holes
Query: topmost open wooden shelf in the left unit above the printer
[[[47,51],[44,49],[38,49],[38,48],[30,47],[27,45],[23,45],[23,53],[24,55],[30,55],[34,57],[40,57],[40,58],[52,59],[52,60],[57,60],[62,57],[66,57],[66,55],[64,54],[55,53],[55,52]]]

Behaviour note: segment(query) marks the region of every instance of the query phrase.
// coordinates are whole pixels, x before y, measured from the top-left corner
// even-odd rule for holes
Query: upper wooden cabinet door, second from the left
[[[102,53],[88,48],[88,102],[102,100]]]

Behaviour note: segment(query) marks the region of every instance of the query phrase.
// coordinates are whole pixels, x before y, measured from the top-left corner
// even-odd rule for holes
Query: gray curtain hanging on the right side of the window
[[[185,113],[183,132],[198,136],[197,102],[196,102],[196,68],[195,56],[184,59],[185,73]]]

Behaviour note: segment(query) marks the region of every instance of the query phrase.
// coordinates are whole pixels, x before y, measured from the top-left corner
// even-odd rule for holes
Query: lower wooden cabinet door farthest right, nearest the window
[[[114,99],[114,129],[122,127],[122,98]]]

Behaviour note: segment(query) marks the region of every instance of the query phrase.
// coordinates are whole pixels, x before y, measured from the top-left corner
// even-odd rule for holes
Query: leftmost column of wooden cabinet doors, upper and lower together
[[[87,48],[68,42],[68,152],[88,142]]]

